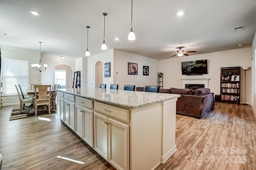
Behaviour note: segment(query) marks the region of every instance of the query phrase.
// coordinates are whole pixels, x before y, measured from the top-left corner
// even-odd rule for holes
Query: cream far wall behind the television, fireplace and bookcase
[[[164,88],[170,87],[182,88],[181,79],[209,78],[208,87],[214,94],[220,94],[220,67],[250,66],[252,50],[251,47],[206,53],[199,55],[190,55],[184,57],[175,57],[171,59],[162,59],[159,61],[159,71],[164,75]],[[207,59],[208,74],[204,75],[182,75],[181,62]],[[242,69],[242,68],[241,68]],[[244,72],[241,71],[241,103],[244,102]],[[246,73],[246,103],[251,101],[251,69]]]

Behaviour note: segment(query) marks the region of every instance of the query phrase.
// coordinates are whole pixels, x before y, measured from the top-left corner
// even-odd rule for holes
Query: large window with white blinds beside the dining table
[[[17,84],[22,89],[28,89],[28,60],[4,57],[3,83],[4,95],[16,95],[14,85]]]

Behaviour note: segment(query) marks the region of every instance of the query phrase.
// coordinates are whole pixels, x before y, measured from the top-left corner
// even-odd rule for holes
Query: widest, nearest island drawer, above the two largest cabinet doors
[[[94,102],[94,110],[129,123],[129,110],[104,103]]]

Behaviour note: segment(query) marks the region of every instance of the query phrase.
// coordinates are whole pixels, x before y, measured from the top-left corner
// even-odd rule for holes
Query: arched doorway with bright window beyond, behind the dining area
[[[55,67],[54,83],[60,84],[62,89],[72,88],[73,68],[68,65],[57,65]]]

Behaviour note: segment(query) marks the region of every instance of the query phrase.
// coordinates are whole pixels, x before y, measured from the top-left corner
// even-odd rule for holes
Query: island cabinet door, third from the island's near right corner
[[[93,111],[83,108],[83,139],[93,148]]]

